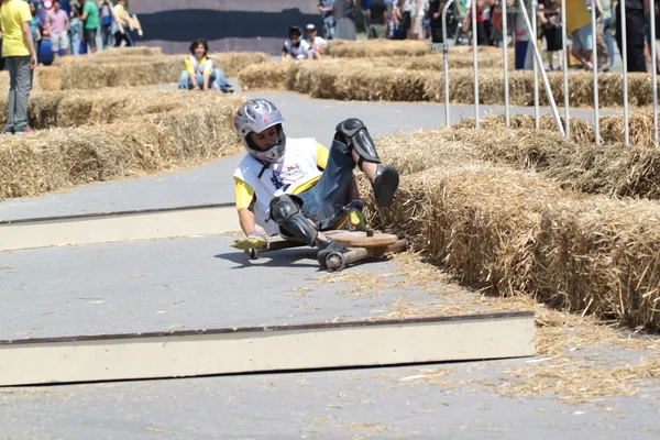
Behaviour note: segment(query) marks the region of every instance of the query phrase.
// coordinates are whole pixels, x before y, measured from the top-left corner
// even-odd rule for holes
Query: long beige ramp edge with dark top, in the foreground
[[[0,341],[0,386],[531,356],[532,311]]]

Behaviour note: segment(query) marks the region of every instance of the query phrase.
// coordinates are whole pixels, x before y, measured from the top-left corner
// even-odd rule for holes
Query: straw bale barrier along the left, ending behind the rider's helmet
[[[189,167],[239,151],[233,113],[243,98],[209,94],[206,100],[186,102],[185,94],[127,94],[124,101],[106,107],[108,119],[123,117],[121,123],[8,138],[0,146],[0,199]],[[112,105],[103,102],[102,94],[97,101],[51,98],[59,106],[55,121],[65,127],[78,124],[86,114],[88,122],[102,122],[89,120],[95,109],[99,119],[106,118],[95,103]],[[138,102],[142,106],[133,106]]]

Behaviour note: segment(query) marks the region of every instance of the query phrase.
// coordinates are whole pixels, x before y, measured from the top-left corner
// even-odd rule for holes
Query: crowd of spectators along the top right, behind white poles
[[[476,30],[472,30],[472,0],[455,0],[448,9],[447,35],[454,44],[471,44],[476,38],[479,45],[501,45],[502,0],[475,0]],[[507,0],[513,10],[517,0]],[[526,1],[528,8],[530,1]],[[596,28],[592,26],[591,8],[596,8]],[[626,41],[628,72],[650,72],[651,20],[659,15],[650,11],[649,0],[627,0]],[[430,40],[443,42],[442,12],[447,0],[319,0],[318,9],[323,21],[326,40],[389,38]],[[571,46],[571,55],[580,65],[591,70],[593,33],[597,41],[597,64],[608,72],[617,56],[620,57],[623,34],[613,32],[620,16],[620,2],[617,0],[565,0],[566,23],[561,21],[561,0],[537,1],[537,38],[546,40],[548,70],[563,69],[562,26]],[[508,35],[515,33],[517,12],[508,14]],[[531,36],[530,41],[536,38]],[[615,52],[618,48],[618,54]]]

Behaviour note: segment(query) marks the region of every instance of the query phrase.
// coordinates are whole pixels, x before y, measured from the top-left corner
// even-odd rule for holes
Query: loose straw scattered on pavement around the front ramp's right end
[[[447,273],[410,253],[396,255],[394,262],[395,271],[391,273],[366,274],[356,271],[345,275],[344,272],[326,275],[317,282],[349,283],[350,292],[356,292],[355,297],[360,297],[361,292],[369,290],[372,285],[378,285],[386,292],[398,292],[406,287],[428,294],[428,299],[418,302],[399,295],[383,315],[370,320],[532,310],[536,318],[537,359],[529,362],[522,360],[507,369],[497,364],[487,365],[488,370],[498,371],[495,382],[484,381],[479,366],[471,369],[468,376],[459,376],[461,369],[442,366],[419,369],[414,376],[383,378],[396,380],[407,386],[429,384],[443,391],[485,388],[507,397],[554,395],[568,404],[603,405],[606,411],[612,410],[607,406],[608,397],[636,396],[644,387],[658,386],[658,337],[604,324],[593,316],[551,309],[528,295],[501,298],[459,288],[451,284]],[[393,279],[396,282],[393,283]],[[613,352],[625,359],[613,359]],[[539,410],[542,411],[542,408]]]

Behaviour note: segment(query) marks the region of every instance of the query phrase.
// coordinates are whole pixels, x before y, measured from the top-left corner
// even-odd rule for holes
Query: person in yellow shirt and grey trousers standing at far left
[[[36,51],[32,40],[30,7],[23,0],[4,0],[0,29],[2,56],[9,69],[9,112],[6,132],[31,133],[28,122],[28,99],[32,89],[32,69],[36,66]]]

